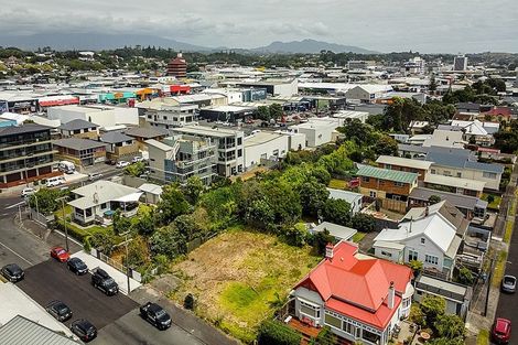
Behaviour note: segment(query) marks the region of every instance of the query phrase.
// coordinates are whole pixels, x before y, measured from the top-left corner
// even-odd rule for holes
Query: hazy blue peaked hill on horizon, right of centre
[[[257,53],[283,53],[283,54],[316,54],[321,51],[332,51],[334,53],[356,53],[356,54],[377,54],[378,52],[365,50],[353,45],[343,45],[327,43],[315,40],[303,40],[292,42],[273,42],[270,45],[252,48]]]

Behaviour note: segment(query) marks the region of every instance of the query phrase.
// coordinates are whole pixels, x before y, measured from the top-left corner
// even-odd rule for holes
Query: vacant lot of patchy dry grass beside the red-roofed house
[[[271,235],[234,229],[173,266],[182,283],[171,297],[183,303],[187,293],[195,294],[199,316],[250,343],[258,325],[319,261],[309,247],[290,247]]]

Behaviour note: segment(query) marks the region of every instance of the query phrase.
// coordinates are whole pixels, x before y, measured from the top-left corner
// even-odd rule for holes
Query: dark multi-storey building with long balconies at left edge
[[[61,175],[52,170],[54,150],[48,127],[26,123],[0,128],[0,187]]]

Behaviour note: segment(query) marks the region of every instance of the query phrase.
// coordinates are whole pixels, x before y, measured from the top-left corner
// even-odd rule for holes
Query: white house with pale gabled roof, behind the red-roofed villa
[[[395,262],[418,260],[427,270],[447,278],[462,242],[455,225],[439,212],[402,222],[397,229],[384,229],[374,240],[376,257]]]

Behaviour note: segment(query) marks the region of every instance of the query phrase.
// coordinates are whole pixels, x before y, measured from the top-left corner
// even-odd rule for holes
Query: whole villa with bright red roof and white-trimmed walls
[[[385,345],[410,313],[412,270],[358,252],[353,242],[328,245],[325,259],[292,292],[295,317],[364,344]]]

